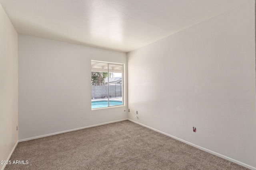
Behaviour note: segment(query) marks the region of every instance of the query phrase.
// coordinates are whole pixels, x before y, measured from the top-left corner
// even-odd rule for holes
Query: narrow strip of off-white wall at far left
[[[0,160],[8,160],[18,141],[17,125],[18,34],[0,4]]]

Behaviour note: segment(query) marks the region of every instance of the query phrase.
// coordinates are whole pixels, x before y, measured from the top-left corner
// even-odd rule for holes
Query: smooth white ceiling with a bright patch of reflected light
[[[251,0],[0,0],[20,34],[133,51]]]

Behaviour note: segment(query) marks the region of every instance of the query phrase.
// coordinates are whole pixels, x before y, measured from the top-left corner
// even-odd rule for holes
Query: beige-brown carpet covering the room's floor
[[[247,169],[131,121],[18,143],[5,170]]]

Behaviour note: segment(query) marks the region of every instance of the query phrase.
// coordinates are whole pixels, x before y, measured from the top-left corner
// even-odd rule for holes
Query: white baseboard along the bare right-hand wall
[[[139,124],[139,125],[142,125],[142,126],[144,126],[144,127],[147,127],[147,128],[149,128],[149,129],[152,129],[153,131],[156,131],[156,132],[162,133],[162,134],[164,134],[164,135],[166,135],[166,136],[169,136],[169,137],[172,137],[172,138],[174,138],[174,139],[177,139],[178,141],[184,142],[184,143],[186,143],[186,144],[188,144],[188,145],[191,145],[191,146],[193,146],[193,147],[196,147],[196,148],[198,148],[198,149],[200,149],[200,150],[204,150],[205,152],[208,152],[208,153],[214,154],[214,155],[216,155],[216,156],[219,156],[220,158],[224,158],[224,159],[226,159],[226,160],[229,160],[229,161],[231,161],[231,162],[234,162],[234,163],[236,163],[236,164],[238,164],[238,165],[244,166],[244,167],[249,168],[249,169],[251,169],[251,170],[256,170],[256,167],[250,166],[250,165],[248,165],[248,164],[244,164],[243,162],[240,162],[240,161],[238,161],[238,160],[234,160],[234,159],[232,159],[232,158],[229,158],[229,157],[227,157],[227,156],[224,156],[224,155],[219,154],[219,153],[217,153],[217,152],[214,152],[214,151],[212,151],[212,150],[205,149],[205,148],[200,147],[200,146],[198,146],[198,145],[194,145],[193,143],[190,143],[190,142],[188,142],[188,141],[184,141],[184,140],[182,140],[182,139],[180,139],[180,138],[174,137],[174,136],[172,136],[172,135],[169,135],[169,134],[167,134],[167,133],[164,133],[164,132],[162,132],[162,131],[159,131],[159,130],[157,130],[157,129],[154,129],[154,128],[152,128],[152,127],[149,127],[149,126],[147,126],[147,125],[144,125],[144,124],[142,124],[142,123],[138,123],[138,122],[136,122],[136,121],[134,121],[134,120],[131,120],[131,119],[128,119],[128,120],[129,120],[129,121],[132,121],[132,122],[134,122],[134,123],[137,123],[137,124]]]

